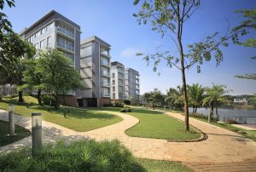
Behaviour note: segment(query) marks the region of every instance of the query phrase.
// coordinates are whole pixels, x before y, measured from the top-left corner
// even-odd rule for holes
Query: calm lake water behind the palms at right
[[[189,112],[192,112],[192,108],[189,107]],[[210,108],[198,108],[197,113],[201,113],[203,115],[208,115]],[[214,117],[215,108],[214,108]],[[247,110],[247,109],[218,109],[218,116],[220,121],[228,121],[229,119],[235,119],[241,123],[247,124],[256,124],[256,110]]]

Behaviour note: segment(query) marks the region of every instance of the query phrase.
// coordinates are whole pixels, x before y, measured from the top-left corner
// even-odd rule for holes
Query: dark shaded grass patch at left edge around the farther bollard
[[[24,129],[18,125],[15,125],[15,136],[7,136],[9,134],[9,123],[0,121],[0,146],[5,146],[14,143],[17,140],[21,140],[29,135],[30,131]]]

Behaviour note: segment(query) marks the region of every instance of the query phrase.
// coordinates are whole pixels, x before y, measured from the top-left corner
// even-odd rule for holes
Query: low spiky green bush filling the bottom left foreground
[[[145,171],[118,140],[59,141],[32,157],[25,147],[0,155],[0,171]]]

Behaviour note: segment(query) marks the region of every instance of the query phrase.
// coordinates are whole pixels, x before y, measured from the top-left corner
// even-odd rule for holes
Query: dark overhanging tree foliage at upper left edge
[[[5,2],[10,8],[15,6],[14,0],[0,0],[0,9]],[[0,12],[0,71],[15,66],[23,56],[31,58],[34,54],[34,47],[13,32],[7,15]]]

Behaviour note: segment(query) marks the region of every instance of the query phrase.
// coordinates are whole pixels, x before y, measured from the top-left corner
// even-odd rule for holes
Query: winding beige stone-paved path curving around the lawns
[[[229,168],[235,164],[246,164],[246,166],[238,166],[244,170],[252,171],[254,169],[256,171],[256,142],[234,132],[189,118],[190,124],[207,133],[207,140],[199,142],[167,142],[160,139],[130,137],[125,135],[125,130],[137,124],[139,120],[125,113],[111,113],[118,115],[124,120],[88,132],[75,132],[54,123],[44,122],[44,140],[65,139],[70,141],[88,138],[88,136],[96,140],[119,139],[138,158],[180,161],[198,171],[212,170],[213,168],[218,169],[218,171],[229,171]],[[180,114],[172,112],[166,112],[166,114],[183,120],[183,116]],[[31,129],[30,118],[21,116],[16,116],[16,118],[19,125]],[[7,120],[7,115],[1,115],[0,120]],[[30,142],[31,138],[26,138],[9,146],[0,147],[0,152],[12,146],[19,147]],[[224,164],[227,164],[227,166]]]

